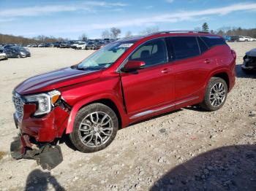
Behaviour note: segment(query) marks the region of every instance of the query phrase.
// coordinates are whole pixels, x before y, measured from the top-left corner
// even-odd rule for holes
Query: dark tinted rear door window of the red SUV
[[[200,55],[195,36],[174,36],[170,38],[176,60]]]

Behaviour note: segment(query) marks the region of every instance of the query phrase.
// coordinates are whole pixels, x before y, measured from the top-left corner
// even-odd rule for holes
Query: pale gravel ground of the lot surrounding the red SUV
[[[256,42],[229,45],[237,53],[237,78],[222,109],[187,107],[131,125],[96,153],[63,143],[64,161],[52,171],[10,157],[18,133],[12,89],[92,51],[31,48],[31,58],[0,61],[0,190],[256,190],[256,74],[245,75],[239,66]]]

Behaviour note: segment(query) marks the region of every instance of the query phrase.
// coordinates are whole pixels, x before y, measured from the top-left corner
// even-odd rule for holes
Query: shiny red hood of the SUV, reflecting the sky
[[[26,79],[15,87],[15,92],[20,95],[45,92],[96,79],[100,74],[100,71],[84,71],[71,68],[59,69]]]

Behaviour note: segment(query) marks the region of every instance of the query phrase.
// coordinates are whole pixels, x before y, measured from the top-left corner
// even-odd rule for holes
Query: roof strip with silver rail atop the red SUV
[[[158,31],[152,34],[140,35],[140,36],[131,36],[124,39],[119,39],[116,42],[137,42],[140,39],[150,38],[150,37],[159,37],[159,36],[219,36],[216,34],[210,34],[204,31]]]

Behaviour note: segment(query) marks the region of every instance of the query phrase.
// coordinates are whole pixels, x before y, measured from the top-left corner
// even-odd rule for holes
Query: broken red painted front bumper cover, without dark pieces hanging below
[[[67,127],[69,114],[61,107],[57,106],[44,117],[31,117],[34,113],[35,105],[26,104],[23,106],[24,115],[21,121],[14,114],[16,128],[20,129],[20,136],[34,137],[38,142],[52,142],[62,136]]]

